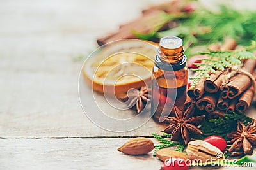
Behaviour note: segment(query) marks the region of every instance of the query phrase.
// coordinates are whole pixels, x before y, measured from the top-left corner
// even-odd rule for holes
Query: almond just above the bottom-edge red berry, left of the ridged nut
[[[179,157],[179,158],[182,158],[184,160],[189,159],[188,155],[186,155],[185,153],[182,153],[182,152],[179,152],[179,151],[176,151],[176,150],[169,150],[167,148],[163,148],[161,150],[157,150],[156,151],[156,156],[160,160],[162,160],[163,162],[166,159],[170,159],[170,157]]]

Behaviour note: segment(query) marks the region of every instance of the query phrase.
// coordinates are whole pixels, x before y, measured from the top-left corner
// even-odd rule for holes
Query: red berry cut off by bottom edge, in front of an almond
[[[170,160],[166,160],[161,170],[188,170],[189,162],[179,157],[172,157]]]

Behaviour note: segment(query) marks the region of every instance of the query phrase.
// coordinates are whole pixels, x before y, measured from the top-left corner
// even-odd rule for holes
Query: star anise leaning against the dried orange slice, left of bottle
[[[150,101],[151,95],[149,92],[150,90],[148,90],[148,87],[145,85],[145,86],[141,86],[140,90],[138,89],[128,90],[127,95],[124,97],[121,97],[120,99],[122,100],[128,99],[126,103],[129,108],[134,106],[134,104],[136,103],[136,110],[138,113],[140,113],[145,107],[145,103],[147,101]]]

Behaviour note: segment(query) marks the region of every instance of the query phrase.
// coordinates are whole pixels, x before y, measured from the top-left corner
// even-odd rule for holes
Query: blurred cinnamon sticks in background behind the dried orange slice
[[[151,6],[150,8],[142,11],[140,18],[127,24],[120,25],[117,32],[97,39],[97,43],[99,46],[101,46],[118,39],[138,39],[138,37],[134,35],[134,31],[139,32],[140,34],[148,34],[150,31],[152,31],[152,29],[154,29],[154,27],[158,29],[154,31],[163,31],[169,29],[172,27],[172,20],[171,18],[169,20],[163,20],[163,15],[180,13],[183,8],[184,2],[179,0],[159,4],[157,6]],[[158,25],[161,25],[161,27],[158,27]],[[150,40],[158,41],[158,39]]]

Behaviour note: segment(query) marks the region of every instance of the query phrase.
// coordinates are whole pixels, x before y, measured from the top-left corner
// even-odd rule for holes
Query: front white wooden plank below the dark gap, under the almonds
[[[1,169],[148,169],[163,164],[152,152],[147,155],[125,155],[116,149],[126,138],[114,139],[1,139]],[[155,144],[157,142],[152,139]],[[217,167],[191,167],[216,169]],[[220,169],[220,168],[219,168]],[[221,169],[241,169],[223,167]],[[243,169],[253,169],[243,167]],[[254,167],[255,169],[255,167]]]

